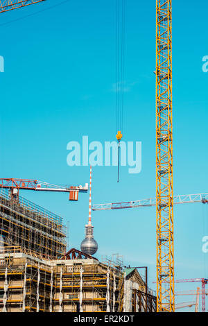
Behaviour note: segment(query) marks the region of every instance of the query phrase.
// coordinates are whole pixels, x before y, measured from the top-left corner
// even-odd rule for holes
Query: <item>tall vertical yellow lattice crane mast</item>
[[[174,312],[172,1],[156,7],[157,311]]]

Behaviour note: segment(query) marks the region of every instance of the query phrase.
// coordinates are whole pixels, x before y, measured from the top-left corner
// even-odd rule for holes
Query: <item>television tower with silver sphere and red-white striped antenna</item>
[[[90,180],[89,180],[89,218],[88,223],[85,225],[85,239],[81,243],[81,251],[88,255],[94,255],[98,250],[98,243],[94,239],[93,229],[91,220],[91,190],[92,190],[92,166],[90,166]]]

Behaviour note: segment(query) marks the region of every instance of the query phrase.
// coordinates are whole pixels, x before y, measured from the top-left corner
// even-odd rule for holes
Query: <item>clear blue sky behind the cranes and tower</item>
[[[130,175],[128,167],[121,168],[118,185],[116,167],[96,166],[93,203],[155,197],[155,0],[127,3],[123,140],[142,141],[142,170]],[[173,1],[175,195],[208,192],[208,73],[202,72],[207,9],[207,0]],[[115,1],[47,0],[0,18],[1,178],[89,182],[89,167],[67,166],[67,143],[83,135],[115,140]],[[80,248],[88,194],[78,203],[67,194],[21,196],[62,215],[70,226],[70,247]],[[203,205],[175,207],[176,279],[208,277],[208,253],[202,253],[207,218]],[[126,264],[148,265],[150,282],[155,280],[154,208],[94,212],[93,223],[98,258],[119,252]]]

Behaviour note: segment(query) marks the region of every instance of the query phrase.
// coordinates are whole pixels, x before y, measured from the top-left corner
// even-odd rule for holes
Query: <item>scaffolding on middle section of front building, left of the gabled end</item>
[[[54,310],[60,310],[61,296],[64,312],[117,311],[121,271],[96,259],[74,259],[70,263],[55,266]]]

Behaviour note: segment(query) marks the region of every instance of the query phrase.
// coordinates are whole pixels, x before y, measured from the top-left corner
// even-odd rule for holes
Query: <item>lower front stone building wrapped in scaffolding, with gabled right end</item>
[[[146,295],[136,268],[129,273],[121,266],[101,263],[82,252],[79,255],[44,260],[18,247],[4,248],[0,253],[0,311],[143,312],[146,307],[155,311],[156,298],[151,291]]]

